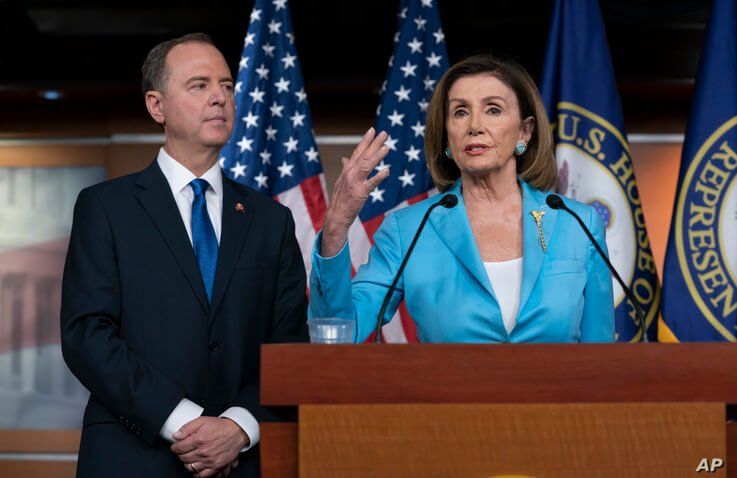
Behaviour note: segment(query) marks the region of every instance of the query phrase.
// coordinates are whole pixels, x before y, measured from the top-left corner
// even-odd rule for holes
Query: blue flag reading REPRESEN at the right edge
[[[686,129],[661,341],[737,340],[737,3],[714,0]]]

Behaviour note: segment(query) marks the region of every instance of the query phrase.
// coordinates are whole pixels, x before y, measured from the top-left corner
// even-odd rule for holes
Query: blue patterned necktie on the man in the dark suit
[[[218,262],[218,240],[215,237],[215,228],[212,227],[210,215],[207,214],[205,191],[210,187],[204,179],[195,179],[191,183],[194,191],[192,202],[192,246],[197,263],[200,265],[200,274],[205,283],[207,300],[212,300],[212,286],[215,283],[215,267]]]

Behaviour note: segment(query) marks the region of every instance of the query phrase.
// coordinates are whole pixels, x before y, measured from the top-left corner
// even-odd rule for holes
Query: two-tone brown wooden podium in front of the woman
[[[737,476],[733,344],[266,345],[261,402],[265,478]]]

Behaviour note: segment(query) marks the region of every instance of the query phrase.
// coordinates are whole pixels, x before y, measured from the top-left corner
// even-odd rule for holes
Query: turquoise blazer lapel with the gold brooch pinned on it
[[[522,289],[520,291],[519,310],[522,312],[530,293],[540,275],[545,255],[550,254],[551,239],[555,230],[555,222],[558,211],[551,209],[545,204],[544,192],[533,189],[522,179],[519,180],[522,187]],[[542,234],[548,247],[548,252],[543,250],[540,242],[540,234],[537,222],[530,213],[531,211],[543,212],[541,219]],[[520,314],[521,315],[521,314]]]

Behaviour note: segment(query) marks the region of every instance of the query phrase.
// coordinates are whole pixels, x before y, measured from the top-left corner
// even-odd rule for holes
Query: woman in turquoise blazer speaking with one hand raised
[[[389,175],[369,178],[388,153],[386,138],[370,129],[344,160],[312,257],[310,316],[355,320],[357,342],[374,330],[420,221],[440,197],[389,214],[351,280],[348,229]],[[553,140],[527,72],[488,55],[451,67],[428,108],[425,153],[438,190],[458,205],[430,213],[384,321],[404,299],[421,342],[611,342],[609,271],[575,220],[545,202],[556,182]],[[595,210],[564,202],[606,250]]]

